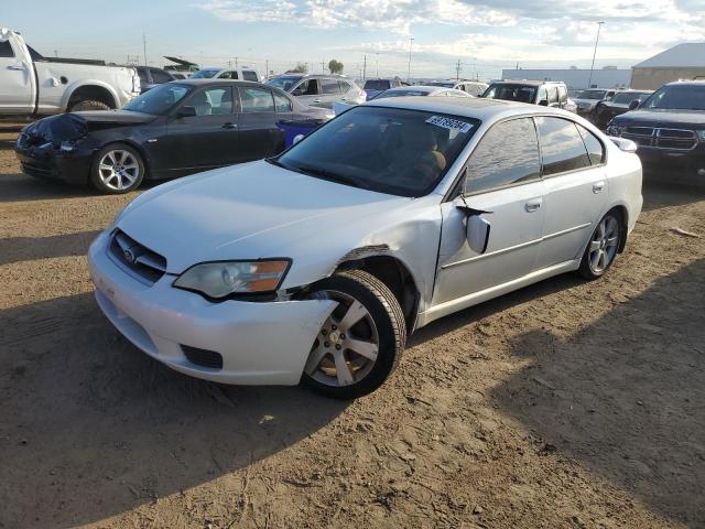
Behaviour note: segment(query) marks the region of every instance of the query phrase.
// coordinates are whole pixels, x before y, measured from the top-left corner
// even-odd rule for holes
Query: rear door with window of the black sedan
[[[260,160],[283,148],[283,132],[276,127],[276,110],[272,90],[260,86],[240,86],[238,116],[238,162]],[[290,102],[290,101],[286,101]],[[289,107],[291,108],[291,107]],[[282,106],[282,117],[286,111]]]

